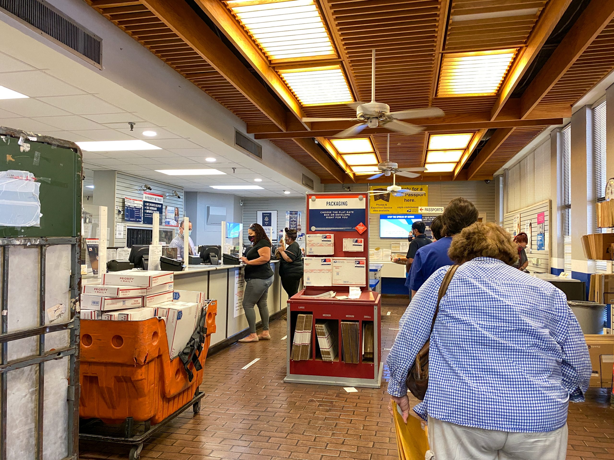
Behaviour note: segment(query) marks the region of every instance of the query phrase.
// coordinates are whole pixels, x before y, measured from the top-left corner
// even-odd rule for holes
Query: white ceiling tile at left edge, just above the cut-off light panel
[[[63,81],[45,74],[42,71],[10,72],[0,74],[0,85],[26,94],[31,98],[38,96],[69,96],[71,94],[85,94],[85,91],[69,85]]]

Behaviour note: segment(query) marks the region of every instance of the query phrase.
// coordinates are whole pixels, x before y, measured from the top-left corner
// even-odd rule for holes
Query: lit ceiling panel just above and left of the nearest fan
[[[341,67],[280,70],[279,74],[301,105],[345,104],[354,102]]]

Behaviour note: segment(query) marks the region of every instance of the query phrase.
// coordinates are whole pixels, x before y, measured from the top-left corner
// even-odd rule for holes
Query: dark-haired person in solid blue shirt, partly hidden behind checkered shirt
[[[411,296],[441,267],[452,265],[448,257],[448,250],[452,243],[452,237],[460,233],[462,229],[478,221],[478,210],[472,202],[465,198],[454,198],[449,202],[441,215],[443,221],[443,234],[445,237],[419,248],[411,264],[410,274],[407,277]]]

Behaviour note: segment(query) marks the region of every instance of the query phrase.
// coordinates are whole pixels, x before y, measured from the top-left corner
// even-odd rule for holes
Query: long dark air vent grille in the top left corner
[[[71,52],[101,65],[102,41],[47,2],[39,0],[0,0],[0,8],[41,31]]]

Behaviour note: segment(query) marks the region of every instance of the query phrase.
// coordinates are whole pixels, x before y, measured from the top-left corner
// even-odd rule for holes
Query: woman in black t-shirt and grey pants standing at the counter
[[[243,294],[243,310],[249,324],[249,335],[239,342],[258,342],[258,340],[271,340],[268,332],[268,306],[266,297],[268,288],[273,284],[273,270],[271,270],[271,240],[266,236],[260,224],[251,224],[247,229],[247,237],[252,247],[246,251],[241,262],[245,264],[245,293]],[[256,312],[254,305],[258,305],[260,319],[262,320],[262,334],[256,335]]]

